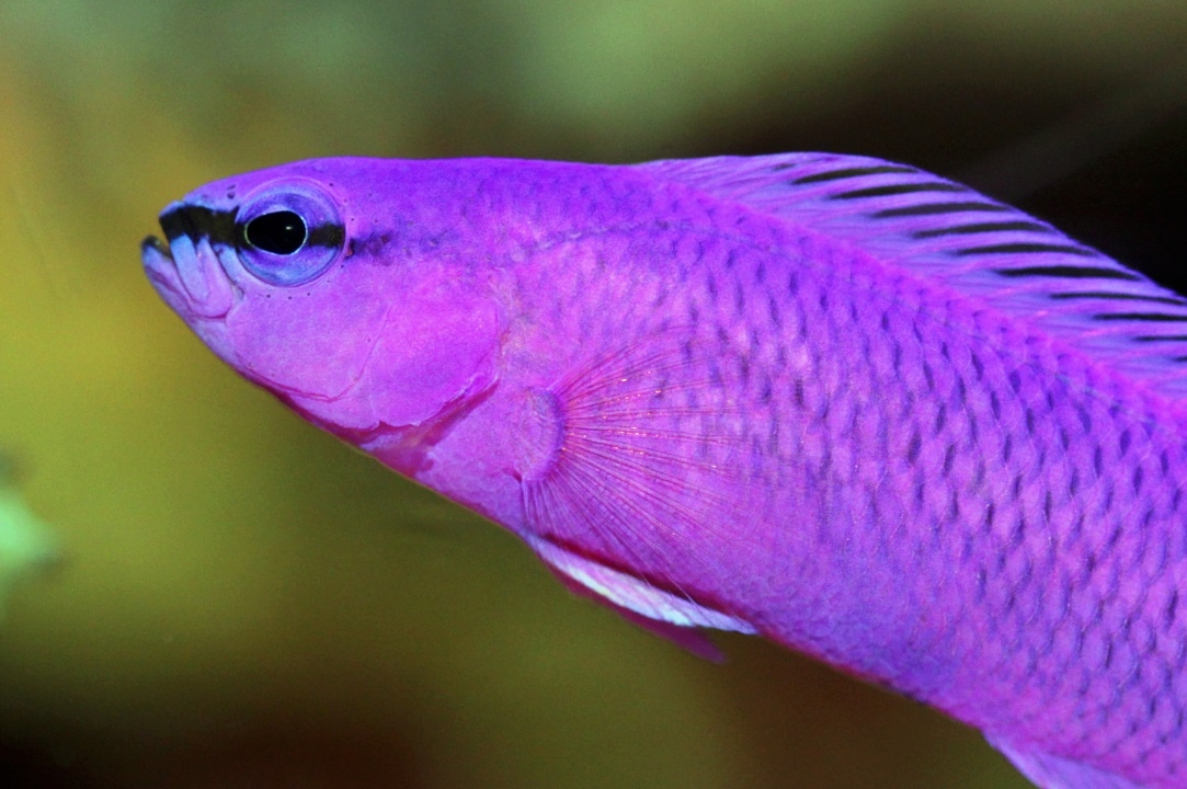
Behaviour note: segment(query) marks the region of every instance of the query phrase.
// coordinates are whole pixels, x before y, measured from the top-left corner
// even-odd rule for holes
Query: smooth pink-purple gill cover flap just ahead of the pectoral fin
[[[501,310],[459,292],[410,294],[393,307],[360,387],[385,425],[421,425],[494,378]],[[362,394],[362,393],[360,393]]]

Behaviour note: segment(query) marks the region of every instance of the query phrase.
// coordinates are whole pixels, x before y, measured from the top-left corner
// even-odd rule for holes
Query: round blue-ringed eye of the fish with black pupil
[[[243,268],[268,285],[303,285],[325,272],[345,247],[336,201],[307,180],[266,184],[235,216]]]

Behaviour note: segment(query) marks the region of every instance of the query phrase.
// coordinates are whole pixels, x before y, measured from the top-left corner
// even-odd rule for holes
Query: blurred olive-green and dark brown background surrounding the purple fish
[[[1028,785],[913,702],[571,597],[237,380],[137,244],[303,157],[829,149],[1187,289],[1185,43],[1149,0],[0,0],[0,450],[66,553],[6,600],[0,785]]]

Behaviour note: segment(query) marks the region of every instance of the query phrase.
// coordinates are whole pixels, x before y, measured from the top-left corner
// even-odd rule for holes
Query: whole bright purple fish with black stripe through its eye
[[[246,378],[712,655],[760,634],[1046,789],[1187,785],[1187,300],[832,154],[324,159],[165,209]]]

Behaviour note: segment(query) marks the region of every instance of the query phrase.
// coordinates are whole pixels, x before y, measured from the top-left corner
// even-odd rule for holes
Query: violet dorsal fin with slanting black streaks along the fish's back
[[[1169,397],[1187,396],[1187,299],[967,186],[907,165],[829,153],[637,167],[837,236],[1071,339]]]

